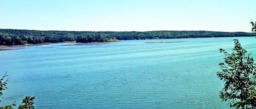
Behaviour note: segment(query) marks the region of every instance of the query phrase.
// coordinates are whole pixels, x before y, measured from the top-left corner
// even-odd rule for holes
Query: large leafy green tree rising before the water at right
[[[253,57],[248,54],[237,39],[232,53],[219,49],[224,53],[224,62],[219,63],[222,71],[217,76],[224,81],[219,93],[222,101],[228,101],[230,107],[256,108],[256,72]]]

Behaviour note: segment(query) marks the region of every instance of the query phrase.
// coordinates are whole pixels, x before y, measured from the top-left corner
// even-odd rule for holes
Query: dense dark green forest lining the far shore
[[[219,31],[39,31],[0,29],[0,45],[12,46],[44,42],[111,42],[116,40],[179,39],[197,37],[256,36],[244,32]]]

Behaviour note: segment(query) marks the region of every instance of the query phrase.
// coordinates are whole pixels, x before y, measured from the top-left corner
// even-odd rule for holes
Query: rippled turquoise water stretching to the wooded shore
[[[228,108],[216,76],[234,37],[56,43],[0,51],[1,104],[35,96],[35,108]],[[256,39],[239,37],[256,57]],[[145,43],[183,41],[179,43]]]

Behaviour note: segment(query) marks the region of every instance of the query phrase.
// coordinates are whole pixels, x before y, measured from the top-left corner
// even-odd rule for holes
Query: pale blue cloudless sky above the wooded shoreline
[[[251,32],[256,0],[0,0],[0,28]]]

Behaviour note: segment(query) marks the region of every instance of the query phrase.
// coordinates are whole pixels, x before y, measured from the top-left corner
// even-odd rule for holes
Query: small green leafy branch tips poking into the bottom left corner
[[[3,95],[3,90],[7,89],[7,82],[8,79],[6,79],[7,77],[7,72],[5,72],[5,74],[2,76],[2,78],[0,79],[0,96]],[[34,98],[35,97],[25,97],[22,100],[22,104],[18,107],[18,109],[34,109]],[[1,102],[1,100],[0,100]],[[5,106],[0,106],[0,109],[13,109],[16,105],[10,104],[10,105],[5,105]]]

